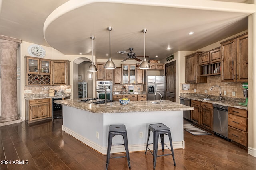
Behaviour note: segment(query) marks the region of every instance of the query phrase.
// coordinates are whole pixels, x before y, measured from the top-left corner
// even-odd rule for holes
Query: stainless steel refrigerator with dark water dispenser
[[[155,95],[155,92],[159,92],[165,100],[164,91],[164,76],[147,76],[147,100],[160,100],[161,96],[159,94]]]

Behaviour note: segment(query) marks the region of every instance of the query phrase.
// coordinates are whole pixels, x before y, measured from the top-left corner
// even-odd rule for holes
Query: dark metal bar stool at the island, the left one
[[[126,156],[116,156],[110,157],[110,151],[112,146],[112,138],[115,135],[122,135],[124,139],[124,144],[116,144],[116,145],[124,145]],[[107,151],[107,163],[106,163],[106,170],[108,169],[109,159],[110,158],[127,158],[129,169],[131,168],[130,165],[130,156],[128,150],[128,140],[127,140],[127,131],[125,125],[110,125],[108,131],[108,151]]]

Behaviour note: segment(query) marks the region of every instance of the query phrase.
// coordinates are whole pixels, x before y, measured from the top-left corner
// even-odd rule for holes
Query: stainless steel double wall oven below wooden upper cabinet
[[[107,99],[112,100],[112,81],[96,81],[96,96],[98,99],[105,99],[105,87],[107,90]]]

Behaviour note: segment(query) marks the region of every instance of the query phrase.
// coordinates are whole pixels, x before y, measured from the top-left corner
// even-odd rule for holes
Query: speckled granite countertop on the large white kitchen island
[[[127,113],[127,112],[152,112],[152,111],[183,111],[194,110],[193,107],[164,100],[159,104],[152,104],[152,101],[130,101],[128,105],[121,105],[118,101],[104,104],[88,104],[81,102],[80,99],[57,100],[54,103],[64,106],[74,107],[76,109],[90,111],[92,113]],[[159,101],[157,101],[159,102]]]

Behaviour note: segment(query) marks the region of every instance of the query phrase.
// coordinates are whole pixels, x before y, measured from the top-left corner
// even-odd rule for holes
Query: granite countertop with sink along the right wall
[[[207,103],[212,103],[212,104],[219,104],[222,106],[228,106],[228,107],[234,107],[234,108],[238,108],[238,109],[245,109],[247,110],[247,106],[241,105],[239,104],[239,102],[244,103],[245,99],[239,99],[239,98],[225,98],[224,100],[216,100],[216,101],[212,101],[212,100],[203,100],[200,98],[206,98],[206,95],[200,95],[200,94],[180,94],[180,98],[187,98],[187,99],[191,99],[191,100],[197,100],[200,102],[207,102]],[[217,99],[218,96],[209,96],[208,98],[214,98]]]

